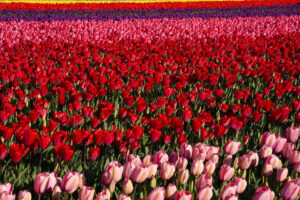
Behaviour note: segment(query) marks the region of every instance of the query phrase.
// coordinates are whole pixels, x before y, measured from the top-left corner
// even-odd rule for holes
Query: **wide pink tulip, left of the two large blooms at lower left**
[[[39,173],[34,179],[34,191],[37,194],[52,192],[57,184],[56,175],[52,173]]]

